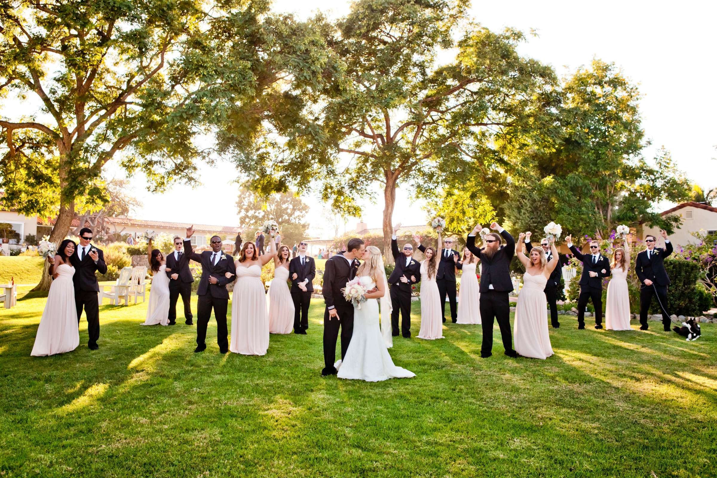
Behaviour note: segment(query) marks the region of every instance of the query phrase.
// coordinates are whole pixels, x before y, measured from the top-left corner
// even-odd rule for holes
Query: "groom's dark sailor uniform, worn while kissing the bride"
[[[353,259],[351,264],[343,257],[345,251],[333,255],[326,261],[323,272],[323,300],[326,302],[326,310],[323,312],[323,362],[324,368],[321,375],[336,373],[333,366],[336,360],[336,340],[338,329],[341,326],[341,360],[346,356],[348,343],[353,335],[353,305],[343,298],[341,289],[346,287],[346,282],[356,277],[356,269],[359,269],[359,261]],[[328,311],[336,309],[339,320],[336,317],[328,320]]]

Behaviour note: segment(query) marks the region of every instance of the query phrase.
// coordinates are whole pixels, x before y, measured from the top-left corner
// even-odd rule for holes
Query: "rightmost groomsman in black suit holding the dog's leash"
[[[647,249],[637,254],[635,258],[635,272],[642,282],[640,287],[640,330],[647,330],[647,312],[650,310],[652,296],[657,297],[660,310],[663,312],[663,328],[670,332],[670,314],[668,313],[668,285],[670,277],[665,271],[665,257],[673,252],[673,246],[668,239],[667,231],[660,229],[660,235],[665,239],[665,249],[655,247],[655,236],[645,237]]]

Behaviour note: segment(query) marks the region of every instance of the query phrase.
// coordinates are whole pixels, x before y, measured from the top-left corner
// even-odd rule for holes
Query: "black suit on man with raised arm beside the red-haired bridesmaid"
[[[209,318],[212,317],[212,309],[214,309],[214,319],[217,320],[217,343],[219,350],[229,350],[229,340],[227,339],[227,303],[229,302],[229,291],[227,284],[237,279],[237,269],[234,268],[234,257],[219,251],[221,254],[219,262],[216,265],[212,263],[213,251],[204,251],[197,254],[191,249],[191,241],[184,241],[184,251],[187,260],[201,264],[201,279],[199,279],[199,289],[196,295],[199,300],[196,304],[196,345],[198,347],[206,347],[206,326],[209,324]],[[189,251],[189,252],[187,252]],[[222,259],[222,256],[226,259]],[[216,257],[215,257],[216,259]],[[234,274],[231,279],[224,277],[224,274],[231,272]],[[216,277],[217,284],[209,284],[209,277]]]

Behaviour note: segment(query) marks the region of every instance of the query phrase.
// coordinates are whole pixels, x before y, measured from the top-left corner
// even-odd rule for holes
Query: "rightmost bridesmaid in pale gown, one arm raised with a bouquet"
[[[624,247],[612,253],[612,278],[607,285],[605,305],[605,328],[607,330],[632,330],[630,327],[630,292],[627,289],[627,272],[630,270],[630,247],[627,238]]]

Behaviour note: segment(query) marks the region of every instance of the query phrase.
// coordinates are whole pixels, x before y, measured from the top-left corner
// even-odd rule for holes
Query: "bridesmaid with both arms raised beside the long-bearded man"
[[[548,277],[558,264],[558,249],[555,248],[555,239],[550,239],[550,249],[553,259],[547,262],[542,247],[533,247],[530,258],[523,253],[526,234],[521,232],[518,237],[518,259],[526,268],[523,274],[523,289],[518,293],[516,304],[516,352],[523,357],[546,359],[553,355],[548,333],[548,300],[545,297],[545,285]]]

